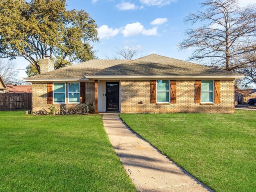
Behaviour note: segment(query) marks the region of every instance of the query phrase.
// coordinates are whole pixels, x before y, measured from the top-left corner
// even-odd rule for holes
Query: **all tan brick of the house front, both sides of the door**
[[[234,80],[220,81],[220,103],[200,104],[194,102],[194,80],[176,81],[176,103],[150,103],[150,80],[120,80],[122,113],[170,113],[204,112],[234,113]],[[94,82],[86,82],[86,103],[94,102]],[[142,104],[140,103],[142,101]],[[70,113],[81,113],[81,104],[54,104],[58,113],[67,106]],[[46,114],[47,83],[33,83],[33,114]]]

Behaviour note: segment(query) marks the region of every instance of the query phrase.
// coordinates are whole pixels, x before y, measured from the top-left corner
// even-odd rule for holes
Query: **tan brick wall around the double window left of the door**
[[[47,83],[33,83],[32,84],[32,102],[33,114],[47,114],[49,109],[47,108]],[[94,82],[85,83],[85,94],[86,94],[86,103],[94,103]],[[54,104],[58,109],[57,113],[62,114],[62,107],[66,106],[69,113],[81,113],[82,106],[81,104]],[[64,112],[65,113],[65,112]]]

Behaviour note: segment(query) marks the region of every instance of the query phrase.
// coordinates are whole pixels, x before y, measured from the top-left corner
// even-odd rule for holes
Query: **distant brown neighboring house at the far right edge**
[[[238,104],[247,104],[248,99],[256,98],[256,89],[235,90],[235,101]]]

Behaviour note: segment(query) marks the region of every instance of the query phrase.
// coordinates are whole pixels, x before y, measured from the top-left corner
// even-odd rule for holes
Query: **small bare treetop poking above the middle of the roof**
[[[132,45],[132,46],[122,46],[121,48],[116,48],[115,54],[115,59],[118,58],[124,58],[127,60],[131,60],[138,54],[142,54],[142,50],[140,46]]]

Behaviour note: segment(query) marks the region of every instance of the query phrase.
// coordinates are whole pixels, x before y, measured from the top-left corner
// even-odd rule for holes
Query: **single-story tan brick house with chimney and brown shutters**
[[[40,60],[41,74],[32,82],[33,113],[53,104],[63,112],[81,112],[93,102],[95,112],[234,113],[234,80],[241,74],[151,54],[135,60],[90,60],[54,70]]]

